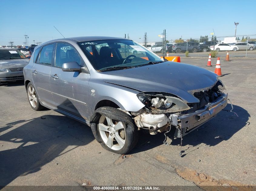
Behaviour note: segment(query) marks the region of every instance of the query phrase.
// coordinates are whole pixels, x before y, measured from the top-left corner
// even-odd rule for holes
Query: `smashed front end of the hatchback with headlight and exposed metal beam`
[[[211,118],[215,117],[227,105],[228,94],[222,81],[201,90],[189,91],[198,99],[196,103],[186,103],[176,95],[167,93],[138,94],[145,105],[138,112],[131,112],[139,128],[148,129],[151,135],[176,128],[175,137],[181,137]]]

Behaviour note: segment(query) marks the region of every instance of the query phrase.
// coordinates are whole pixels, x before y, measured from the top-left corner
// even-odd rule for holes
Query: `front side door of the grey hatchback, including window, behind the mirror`
[[[54,66],[50,73],[51,92],[55,107],[73,116],[88,120],[90,74],[89,72],[64,72],[62,64],[66,62],[77,62],[82,67],[86,67],[81,56],[71,44],[58,42],[55,49]]]

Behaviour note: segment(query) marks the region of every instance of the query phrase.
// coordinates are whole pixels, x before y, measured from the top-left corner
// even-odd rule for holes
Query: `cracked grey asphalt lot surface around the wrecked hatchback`
[[[145,135],[126,158],[103,149],[91,129],[52,110],[34,111],[23,82],[0,84],[0,185],[255,185],[255,58],[221,57],[220,79],[234,113],[217,117],[186,135]],[[208,58],[181,62],[206,67]],[[212,58],[215,65],[216,58]],[[231,110],[231,104],[225,108]],[[179,152],[182,150],[182,156]],[[206,180],[195,177],[204,173]],[[201,176],[201,175],[200,175]],[[197,178],[197,179],[196,179]],[[225,185],[226,185],[225,184]]]

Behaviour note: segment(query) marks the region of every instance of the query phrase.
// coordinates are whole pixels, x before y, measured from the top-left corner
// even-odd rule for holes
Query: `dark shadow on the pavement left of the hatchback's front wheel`
[[[43,119],[21,120],[2,128],[7,132],[0,135],[1,186],[37,172],[51,161],[56,165],[58,156],[94,140],[87,125],[66,116],[45,115]]]

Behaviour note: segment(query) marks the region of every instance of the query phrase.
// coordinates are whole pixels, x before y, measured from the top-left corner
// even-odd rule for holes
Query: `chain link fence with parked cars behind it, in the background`
[[[147,41],[149,50],[159,56],[204,57],[214,51],[215,56],[225,56],[230,51],[233,57],[256,58],[256,35],[227,36],[211,38],[166,40],[165,31],[158,42]],[[141,43],[145,46],[145,42]]]

